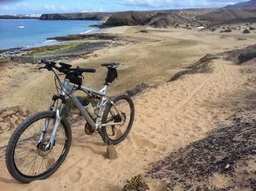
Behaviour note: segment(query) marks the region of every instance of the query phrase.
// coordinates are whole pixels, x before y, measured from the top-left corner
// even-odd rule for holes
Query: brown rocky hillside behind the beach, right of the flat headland
[[[152,27],[167,27],[175,25],[202,26],[234,19],[255,17],[256,7],[127,11],[112,14],[105,25],[148,25]]]

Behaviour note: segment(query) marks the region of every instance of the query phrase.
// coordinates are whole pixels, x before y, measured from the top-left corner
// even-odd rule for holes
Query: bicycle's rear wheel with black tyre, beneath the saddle
[[[120,114],[124,117],[124,124],[103,126],[102,133],[108,142],[115,145],[123,141],[132,128],[134,120],[134,104],[131,97],[124,94],[114,97],[112,101]],[[120,121],[121,118],[118,115],[117,110],[115,110],[114,106],[109,103],[103,113],[102,124],[118,123]]]

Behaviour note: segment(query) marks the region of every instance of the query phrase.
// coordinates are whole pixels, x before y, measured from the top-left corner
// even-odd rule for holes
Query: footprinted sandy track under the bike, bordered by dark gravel
[[[116,146],[118,159],[106,159],[107,146],[98,134],[85,135],[84,121],[79,121],[72,127],[73,142],[65,163],[46,180],[17,183],[9,176],[1,151],[1,188],[121,190],[126,179],[143,173],[168,152],[203,138],[236,106],[247,105],[245,97],[255,90],[244,84],[253,74],[242,75],[239,70],[245,66],[221,59],[211,61],[210,67],[212,73],[185,75],[134,97],[134,125],[128,138]]]

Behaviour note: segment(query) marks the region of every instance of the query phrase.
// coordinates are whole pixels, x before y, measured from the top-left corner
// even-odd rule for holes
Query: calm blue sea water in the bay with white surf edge
[[[49,41],[46,38],[96,31],[98,28],[89,27],[89,25],[99,22],[84,20],[0,19],[0,50],[52,45],[57,43],[57,41]],[[20,25],[25,26],[25,28],[17,28]]]

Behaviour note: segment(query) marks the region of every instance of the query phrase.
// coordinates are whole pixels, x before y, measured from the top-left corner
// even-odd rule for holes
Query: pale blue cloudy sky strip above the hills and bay
[[[249,0],[0,0],[0,14],[224,7]]]

